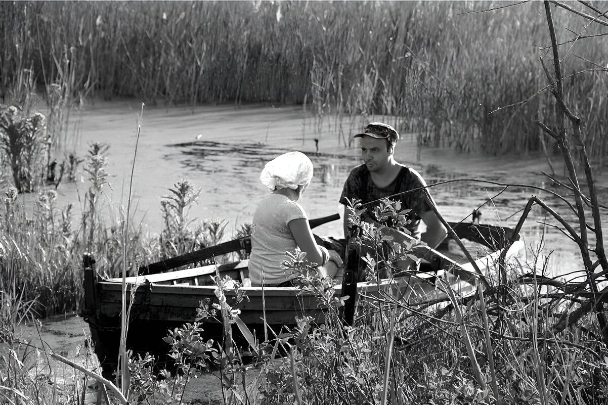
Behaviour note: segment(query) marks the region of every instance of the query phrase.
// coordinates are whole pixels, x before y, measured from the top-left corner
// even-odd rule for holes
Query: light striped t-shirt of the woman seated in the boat
[[[280,194],[269,194],[254,213],[249,256],[249,279],[252,285],[277,285],[294,278],[281,268],[286,251],[297,244],[289,222],[308,216],[300,204]],[[263,275],[262,275],[263,272]],[[262,280],[263,277],[263,280]]]

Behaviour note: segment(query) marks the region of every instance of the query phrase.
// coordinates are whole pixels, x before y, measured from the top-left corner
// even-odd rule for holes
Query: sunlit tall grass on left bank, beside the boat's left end
[[[107,218],[102,198],[107,188],[108,145],[92,144],[85,162],[89,189],[81,217],[73,204],[57,206],[57,192],[43,190],[32,207],[26,207],[14,187],[3,190],[0,204],[0,286],[15,286],[25,301],[35,301],[38,316],[78,311],[83,298],[81,256],[95,252],[97,269],[104,277],[119,277],[126,266],[133,274],[144,261],[151,263],[219,243],[226,220],[189,220],[195,203],[194,185],[182,180],[171,190],[173,199],[162,206],[162,235],[143,235],[141,224],[125,215]],[[178,204],[181,202],[181,205]],[[176,222],[175,210],[181,210]],[[134,213],[127,215],[132,218]],[[238,231],[243,236],[247,226]],[[128,249],[125,249],[128,245]]]

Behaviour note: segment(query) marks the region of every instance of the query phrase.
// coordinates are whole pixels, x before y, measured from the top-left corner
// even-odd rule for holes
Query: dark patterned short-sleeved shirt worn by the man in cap
[[[407,224],[407,229],[412,232],[412,237],[420,239],[420,214],[431,210],[422,189],[419,187],[426,187],[426,182],[418,174],[416,170],[411,167],[401,166],[399,174],[386,187],[378,187],[370,176],[370,171],[366,165],[362,164],[355,167],[348,175],[346,182],[344,183],[344,189],[342,189],[342,195],[340,195],[340,204],[347,205],[346,198],[353,201],[353,199],[361,199],[365,202],[375,201],[377,199],[386,198],[387,196],[403,193],[399,196],[392,197],[393,201],[401,201],[401,209],[410,209],[411,211],[406,215],[406,218],[411,222]],[[409,190],[415,190],[408,192]],[[377,203],[376,203],[377,204]],[[368,211],[365,212],[364,216],[373,219],[373,207],[376,204],[367,206]]]

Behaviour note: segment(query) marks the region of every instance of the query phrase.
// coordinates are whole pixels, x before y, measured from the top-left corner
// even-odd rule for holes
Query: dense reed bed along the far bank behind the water
[[[531,123],[554,116],[550,94],[537,94],[545,88],[538,59],[549,45],[542,4],[467,13],[492,6],[3,2],[1,88],[5,99],[18,97],[30,72],[33,87],[44,94],[56,86],[71,102],[97,95],[304,103],[319,127],[334,118],[344,144],[353,121],[382,114],[418,131],[421,144],[489,154],[541,150]],[[556,26],[574,84],[567,99],[579,100],[587,150],[603,163],[607,78],[594,63],[606,58],[608,39],[586,36],[604,27],[561,9]],[[583,38],[567,42],[578,33]]]

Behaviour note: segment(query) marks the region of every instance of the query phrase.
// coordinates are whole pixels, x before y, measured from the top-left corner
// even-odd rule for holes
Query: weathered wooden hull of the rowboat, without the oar
[[[495,227],[492,232],[502,228]],[[489,229],[489,228],[488,228]],[[470,230],[470,229],[469,229]],[[482,229],[483,230],[483,229]],[[475,228],[474,232],[480,231]],[[503,240],[505,232],[502,231]],[[508,235],[508,234],[507,234]],[[489,240],[487,235],[482,235]],[[492,239],[493,240],[493,239]],[[517,252],[522,242],[510,245],[508,255]],[[496,245],[500,247],[499,244]],[[482,271],[496,261],[501,250],[478,258],[478,268]],[[446,252],[447,253],[447,252]],[[197,310],[201,303],[218,303],[217,287],[212,284],[212,275],[221,275],[233,280],[245,280],[248,276],[248,261],[238,261],[220,266],[202,266],[193,269],[147,274],[128,277],[126,297],[131,299],[126,347],[137,353],[153,353],[162,356],[168,351],[168,344],[162,338],[167,331],[185,323],[197,320]],[[453,258],[441,252],[434,252],[432,260],[423,263],[423,271],[398,279],[382,280],[381,283],[358,283],[357,302],[373,301],[391,297],[409,302],[409,305],[446,300],[442,291],[445,283],[451,285],[461,295],[474,291],[475,271],[471,263],[458,264]],[[438,288],[436,280],[443,280]],[[333,288],[333,295],[342,296],[342,286]],[[311,317],[316,324],[325,322],[326,306],[311,292],[294,287],[242,287],[246,299],[235,303],[234,291],[225,290],[227,303],[240,310],[239,317],[256,336],[264,336],[271,328],[280,333],[283,327],[292,327],[296,319]],[[102,279],[94,269],[94,260],[85,260],[85,310],[83,316],[89,322],[95,353],[103,365],[103,370],[111,373],[116,367],[120,341],[120,313],[122,308],[122,279]],[[224,339],[222,320],[206,318],[202,328],[204,337],[222,341]],[[265,328],[266,327],[266,328]],[[233,326],[233,336],[242,335]],[[246,342],[241,341],[244,345]]]

